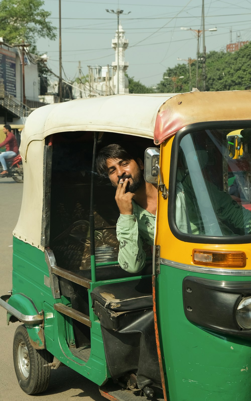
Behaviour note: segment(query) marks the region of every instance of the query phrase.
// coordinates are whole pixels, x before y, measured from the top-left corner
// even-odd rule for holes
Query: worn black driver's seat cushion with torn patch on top
[[[152,277],[96,287],[91,299],[116,312],[152,308]]]

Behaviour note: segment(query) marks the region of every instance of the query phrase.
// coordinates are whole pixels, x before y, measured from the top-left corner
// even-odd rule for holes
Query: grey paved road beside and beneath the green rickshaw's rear
[[[10,178],[0,180],[0,295],[12,288],[12,230],[18,220],[22,187]],[[74,397],[104,401],[97,385],[67,367],[52,370],[46,393],[26,395],[18,385],[12,359],[12,340],[18,324],[7,326],[6,312],[0,307],[0,401],[68,401]]]

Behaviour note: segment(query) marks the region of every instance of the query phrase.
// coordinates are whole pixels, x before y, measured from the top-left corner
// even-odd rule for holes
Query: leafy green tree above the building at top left
[[[55,40],[55,26],[47,21],[50,12],[43,10],[43,0],[2,0],[0,2],[0,36],[9,44],[28,43],[36,53],[36,40]]]

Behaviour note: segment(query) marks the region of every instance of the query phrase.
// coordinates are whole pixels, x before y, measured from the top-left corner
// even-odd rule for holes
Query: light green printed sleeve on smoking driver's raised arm
[[[142,249],[143,244],[135,215],[119,216],[117,239],[119,241],[118,262],[122,269],[129,273],[137,273],[142,270],[146,261],[146,253]]]

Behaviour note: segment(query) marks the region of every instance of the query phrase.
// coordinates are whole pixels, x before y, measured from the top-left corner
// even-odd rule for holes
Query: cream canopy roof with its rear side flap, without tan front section
[[[32,111],[21,134],[19,151],[23,159],[24,188],[14,236],[44,250],[41,227],[43,152],[47,136],[58,132],[103,131],[153,139],[158,110],[172,95],[93,97],[47,105]]]

